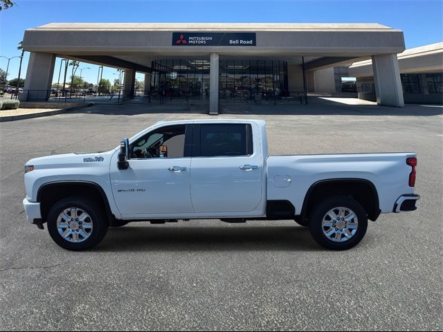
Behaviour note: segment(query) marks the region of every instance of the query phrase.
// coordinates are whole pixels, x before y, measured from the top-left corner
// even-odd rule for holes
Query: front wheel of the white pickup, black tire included
[[[73,251],[97,246],[108,230],[103,209],[97,203],[79,196],[55,203],[49,210],[47,221],[48,232],[55,243]]]

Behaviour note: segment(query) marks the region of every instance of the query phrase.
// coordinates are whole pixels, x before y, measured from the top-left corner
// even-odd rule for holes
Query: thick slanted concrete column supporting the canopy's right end
[[[372,56],[377,104],[404,107],[397,54]]]

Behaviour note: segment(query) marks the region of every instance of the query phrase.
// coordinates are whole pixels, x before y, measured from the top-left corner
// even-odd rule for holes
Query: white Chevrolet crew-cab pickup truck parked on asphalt
[[[178,219],[295,220],[333,250],[363,239],[368,219],[413,211],[414,153],[269,156],[261,120],[157,122],[120,147],[31,159],[30,223],[69,250],[107,228]]]

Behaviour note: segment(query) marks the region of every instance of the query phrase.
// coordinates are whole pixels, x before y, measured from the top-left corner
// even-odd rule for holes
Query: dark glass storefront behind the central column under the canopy
[[[151,93],[170,99],[209,100],[208,59],[164,59],[152,62]],[[220,60],[219,98],[247,100],[287,96],[287,62]]]

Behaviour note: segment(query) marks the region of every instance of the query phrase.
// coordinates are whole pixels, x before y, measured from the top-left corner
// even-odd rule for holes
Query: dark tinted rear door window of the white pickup
[[[201,124],[199,141],[199,151],[195,151],[195,156],[253,154],[251,124]]]

